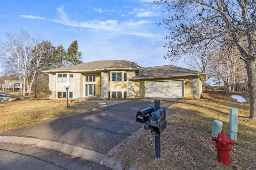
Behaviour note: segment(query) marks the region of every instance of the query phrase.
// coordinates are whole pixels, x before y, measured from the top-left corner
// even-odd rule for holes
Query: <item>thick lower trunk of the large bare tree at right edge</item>
[[[256,119],[256,61],[245,61],[250,94],[250,116]]]

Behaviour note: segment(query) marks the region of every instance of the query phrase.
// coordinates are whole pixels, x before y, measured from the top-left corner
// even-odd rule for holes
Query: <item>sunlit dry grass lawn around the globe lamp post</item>
[[[106,102],[107,103],[107,102]],[[97,109],[98,102],[26,99],[0,104],[0,132]],[[4,126],[4,115],[5,126]]]

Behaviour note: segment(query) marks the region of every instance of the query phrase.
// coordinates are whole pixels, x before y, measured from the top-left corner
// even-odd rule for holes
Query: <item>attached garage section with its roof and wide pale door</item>
[[[172,65],[140,68],[131,79],[135,96],[146,98],[200,98],[206,74]]]

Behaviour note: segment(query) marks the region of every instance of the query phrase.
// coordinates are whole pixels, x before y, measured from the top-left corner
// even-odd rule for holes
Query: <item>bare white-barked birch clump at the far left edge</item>
[[[26,86],[30,93],[30,87],[34,81],[34,78],[29,80],[28,76],[34,72],[31,62],[37,56],[33,55],[32,49],[38,44],[38,41],[23,29],[20,29],[19,33],[6,33],[6,37],[7,41],[0,44],[0,57],[4,59],[8,69],[19,77],[20,91],[25,96]]]

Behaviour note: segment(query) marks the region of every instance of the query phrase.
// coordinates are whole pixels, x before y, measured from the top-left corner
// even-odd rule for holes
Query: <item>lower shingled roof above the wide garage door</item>
[[[140,71],[136,74],[132,80],[149,79],[149,78],[171,78],[180,76],[196,76],[198,75],[202,81],[206,81],[206,74],[182,68],[173,65],[154,66],[148,68],[140,68]]]

